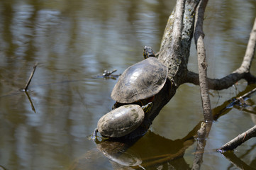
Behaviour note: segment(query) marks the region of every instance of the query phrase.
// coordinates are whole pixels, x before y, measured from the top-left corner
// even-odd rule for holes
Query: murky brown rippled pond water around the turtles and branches
[[[0,165],[6,169],[69,169],[72,164],[80,169],[113,169],[87,137],[99,118],[111,110],[110,94],[116,80],[92,77],[104,69],[122,73],[143,60],[145,45],[159,50],[174,4],[1,0]],[[243,60],[256,5],[253,0],[209,1],[206,11],[208,76],[221,78]],[[33,111],[28,96],[19,89],[25,86],[35,62],[38,68],[28,91]],[[197,69],[194,45],[189,69]],[[255,63],[252,73],[256,74]],[[237,89],[211,91],[212,108],[245,86],[240,81]],[[254,113],[255,100],[250,101]],[[233,108],[213,123],[201,169],[235,169],[214,149],[255,125],[254,113]],[[199,87],[182,85],[150,132],[130,148],[135,152],[131,155],[145,160],[176,153],[202,118]],[[235,155],[256,167],[255,147],[252,139],[238,147]],[[191,142],[182,158],[147,169],[189,169],[195,149],[196,142]]]

